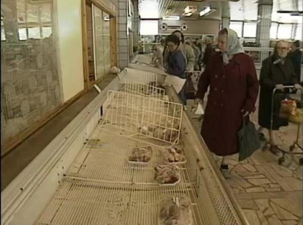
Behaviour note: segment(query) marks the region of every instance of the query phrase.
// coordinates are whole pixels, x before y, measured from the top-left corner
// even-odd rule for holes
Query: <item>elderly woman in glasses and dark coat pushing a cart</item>
[[[294,85],[295,88],[300,88],[297,84],[297,76],[294,73],[293,65],[290,59],[287,58],[288,42],[278,41],[275,45],[274,54],[262,62],[260,73],[260,102],[259,102],[259,125],[262,128],[269,130],[270,150],[277,153],[278,147],[275,142],[275,131],[282,126],[287,126],[286,119],[279,118],[279,110],[281,101],[287,96],[289,90],[283,90],[283,85]],[[271,110],[271,99],[274,88],[277,88],[274,97],[274,111]],[[274,114],[273,125],[271,127],[271,114]],[[261,135],[264,137],[264,134]]]

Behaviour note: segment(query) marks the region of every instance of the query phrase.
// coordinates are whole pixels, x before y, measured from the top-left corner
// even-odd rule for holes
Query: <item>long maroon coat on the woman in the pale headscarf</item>
[[[254,61],[247,54],[238,53],[224,65],[222,54],[214,53],[199,79],[196,97],[203,99],[209,86],[201,135],[216,155],[237,153],[241,109],[255,111],[258,97],[259,82]]]

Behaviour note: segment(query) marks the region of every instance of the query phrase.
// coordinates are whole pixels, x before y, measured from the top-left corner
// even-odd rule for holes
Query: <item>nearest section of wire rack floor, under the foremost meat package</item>
[[[194,224],[218,224],[208,213],[204,196],[192,185],[146,188],[69,178],[58,189],[37,224],[160,224],[160,204],[164,196],[188,197]]]

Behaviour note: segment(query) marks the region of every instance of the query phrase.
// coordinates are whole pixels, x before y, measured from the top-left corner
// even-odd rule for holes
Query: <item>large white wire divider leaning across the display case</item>
[[[180,138],[183,105],[157,98],[109,91],[103,129],[141,140],[155,139],[171,145]]]

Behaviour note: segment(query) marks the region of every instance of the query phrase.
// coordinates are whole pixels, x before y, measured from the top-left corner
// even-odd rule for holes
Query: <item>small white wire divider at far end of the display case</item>
[[[119,75],[120,81],[130,80],[138,83],[148,84],[158,82],[158,75],[147,71],[125,68]]]

